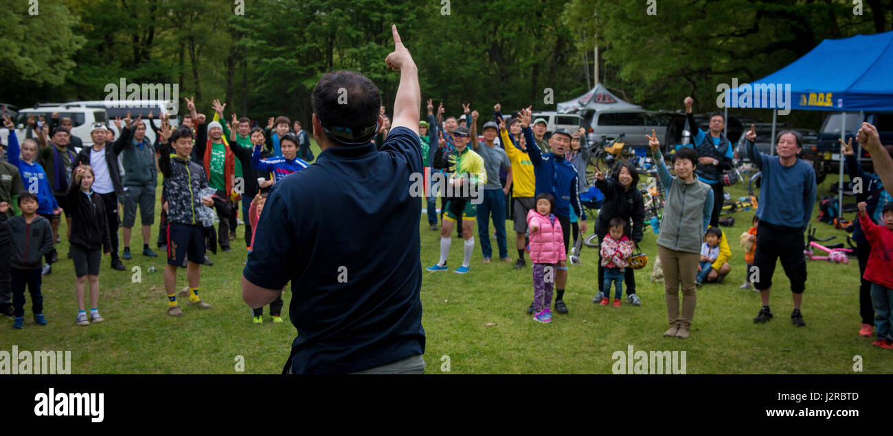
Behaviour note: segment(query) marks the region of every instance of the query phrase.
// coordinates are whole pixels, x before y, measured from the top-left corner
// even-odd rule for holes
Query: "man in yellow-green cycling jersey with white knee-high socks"
[[[444,186],[451,195],[444,194],[447,198],[447,216],[443,218],[440,226],[440,260],[436,265],[426,269],[447,270],[447,256],[452,245],[449,235],[455,222],[461,220],[462,237],[465,240],[464,258],[462,266],[455,269],[455,274],[465,274],[471,269],[472,252],[474,252],[472,231],[477,215],[477,204],[480,204],[480,187],[487,184],[487,170],[480,154],[468,147],[471,139],[468,128],[456,128],[451,136],[455,142],[455,152],[447,152],[446,146],[438,146],[432,164],[434,168],[447,171],[447,180],[444,181],[446,183],[441,183],[441,186]]]

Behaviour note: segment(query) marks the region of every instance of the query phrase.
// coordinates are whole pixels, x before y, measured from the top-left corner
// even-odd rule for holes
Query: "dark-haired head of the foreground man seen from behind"
[[[378,133],[379,88],[353,71],[323,74],[313,88],[313,112],[337,144],[365,144]]]

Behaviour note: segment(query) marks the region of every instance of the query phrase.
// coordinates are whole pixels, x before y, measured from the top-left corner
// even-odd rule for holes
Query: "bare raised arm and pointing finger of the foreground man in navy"
[[[391,26],[394,35],[394,52],[388,54],[385,64],[392,70],[400,71],[400,86],[394,99],[393,128],[404,127],[419,133],[419,115],[421,107],[421,89],[419,88],[419,70],[413,61],[413,55],[406,50],[396,32],[396,25]]]

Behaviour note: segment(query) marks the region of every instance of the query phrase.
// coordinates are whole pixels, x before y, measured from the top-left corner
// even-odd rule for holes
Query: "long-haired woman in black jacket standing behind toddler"
[[[606,171],[605,171],[606,172]],[[645,225],[645,203],[642,202],[642,194],[638,192],[638,173],[629,162],[622,163],[611,175],[605,177],[605,173],[596,172],[596,187],[605,194],[602,209],[598,211],[596,219],[596,234],[601,245],[605,234],[608,234],[609,226],[613,218],[621,218],[630,229],[630,240],[633,243],[633,251],[638,243],[642,242],[642,227]],[[630,221],[632,222],[630,226]],[[599,302],[605,295],[604,280],[605,268],[602,267],[601,255],[598,258],[598,293],[593,302]],[[626,284],[627,300],[633,306],[641,306],[641,300],[636,295],[636,276],[632,268],[626,268],[623,282]]]

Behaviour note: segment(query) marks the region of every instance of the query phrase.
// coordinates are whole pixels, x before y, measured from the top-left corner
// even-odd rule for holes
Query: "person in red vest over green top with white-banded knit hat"
[[[194,100],[187,103],[192,118],[197,119]],[[220,106],[214,101],[214,110],[222,113],[225,105]],[[296,144],[297,145],[297,144]],[[220,222],[217,225],[217,241],[221,245],[221,251],[230,252],[230,210],[233,207],[230,201],[232,182],[236,172],[236,156],[230,150],[229,144],[223,141],[223,126],[219,121],[211,121],[208,124],[199,124],[196,128],[196,158],[204,166],[204,174],[208,177],[208,186],[217,190],[213,195],[214,211]]]

